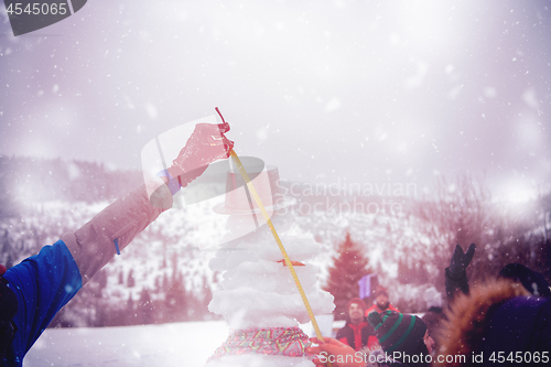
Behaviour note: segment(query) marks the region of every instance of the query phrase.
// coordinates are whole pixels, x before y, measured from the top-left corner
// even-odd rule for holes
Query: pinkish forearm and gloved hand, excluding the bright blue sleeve
[[[227,122],[198,123],[172,165],[90,222],[62,237],[85,284],[159,215],[172,207],[172,195],[198,177],[208,164],[229,156],[234,142],[225,137]],[[148,193],[152,193],[149,195]]]

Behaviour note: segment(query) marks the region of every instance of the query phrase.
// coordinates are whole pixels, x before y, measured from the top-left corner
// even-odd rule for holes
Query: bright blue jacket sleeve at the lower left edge
[[[19,306],[13,319],[18,331],[2,366],[21,366],[23,356],[55,314],[78,292],[83,280],[62,240],[44,246],[39,255],[9,269],[4,278]]]

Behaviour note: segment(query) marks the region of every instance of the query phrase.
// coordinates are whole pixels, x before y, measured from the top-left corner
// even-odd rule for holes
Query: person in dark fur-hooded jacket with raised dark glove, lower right
[[[541,366],[551,361],[549,283],[525,266],[508,265],[499,277],[469,289],[465,269],[475,246],[460,245],[445,271],[451,300],[441,331],[436,366]],[[445,361],[451,356],[452,363]],[[454,356],[465,356],[455,358]]]

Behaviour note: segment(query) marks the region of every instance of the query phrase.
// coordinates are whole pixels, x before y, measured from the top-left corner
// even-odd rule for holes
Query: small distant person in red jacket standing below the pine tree
[[[355,350],[365,347],[374,349],[379,346],[375,331],[364,316],[366,304],[358,298],[348,301],[348,317],[346,325],[337,332],[336,338]]]

